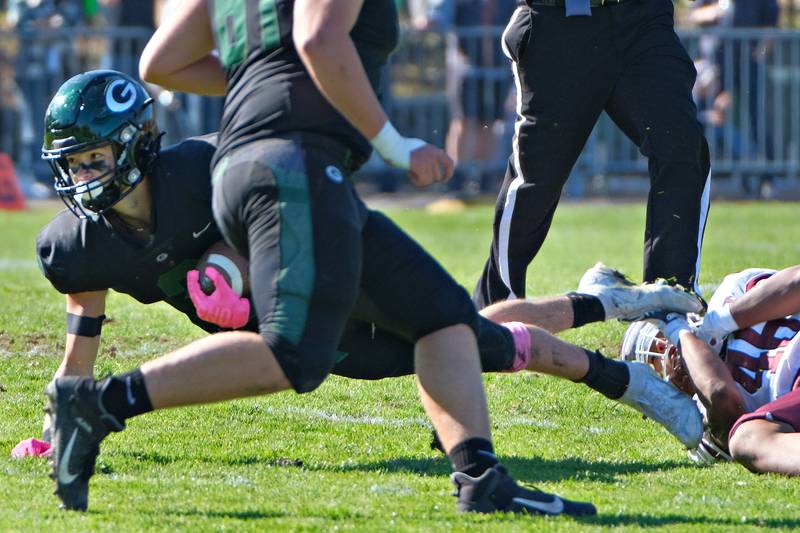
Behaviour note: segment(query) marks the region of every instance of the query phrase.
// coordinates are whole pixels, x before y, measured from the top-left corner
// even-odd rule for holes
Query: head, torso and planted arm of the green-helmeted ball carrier
[[[110,70],[65,82],[45,126],[42,156],[69,208],[36,242],[42,272],[67,300],[67,357],[58,375],[91,375],[108,289],[142,303],[166,301],[218,331],[197,318],[185,281],[222,239],[209,209],[215,135],[160,150],[152,98]]]

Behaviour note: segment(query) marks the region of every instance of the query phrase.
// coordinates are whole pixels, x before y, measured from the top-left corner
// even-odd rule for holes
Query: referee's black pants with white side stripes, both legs
[[[697,73],[675,34],[671,0],[606,5],[591,17],[522,6],[502,46],[517,120],[476,305],[525,296],[527,267],[603,110],[649,160],[644,279],[697,290],[710,163],[691,95]]]

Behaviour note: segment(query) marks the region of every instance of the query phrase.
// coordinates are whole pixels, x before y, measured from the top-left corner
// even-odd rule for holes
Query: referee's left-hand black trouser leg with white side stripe
[[[517,121],[490,257],[473,293],[479,309],[525,296],[528,264],[611,94],[619,66],[610,12],[594,13],[568,18],[563,7],[520,7],[503,34],[517,84]]]

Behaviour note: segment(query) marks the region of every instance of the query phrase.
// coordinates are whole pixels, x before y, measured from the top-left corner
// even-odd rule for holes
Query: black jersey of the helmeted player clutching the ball
[[[162,150],[148,179],[154,232],[136,243],[106,217],[80,220],[60,212],[38,235],[42,272],[64,294],[114,289],[149,304],[165,301],[206,331],[186,291],[186,272],[222,239],[211,212],[209,164],[216,136],[187,139]]]

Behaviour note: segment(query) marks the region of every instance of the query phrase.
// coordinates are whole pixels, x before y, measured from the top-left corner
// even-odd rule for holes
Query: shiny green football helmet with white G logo
[[[161,133],[153,99],[130,76],[92,70],[67,80],[44,119],[42,159],[50,163],[55,190],[78,218],[96,219],[141,183],[158,156]],[[76,183],[67,157],[111,146],[115,166]]]

